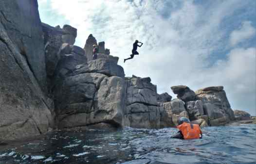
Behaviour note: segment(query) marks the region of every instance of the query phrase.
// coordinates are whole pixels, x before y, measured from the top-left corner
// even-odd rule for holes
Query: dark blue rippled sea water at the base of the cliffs
[[[176,131],[53,131],[0,146],[0,164],[256,164],[256,125],[206,127],[197,140],[170,138]]]

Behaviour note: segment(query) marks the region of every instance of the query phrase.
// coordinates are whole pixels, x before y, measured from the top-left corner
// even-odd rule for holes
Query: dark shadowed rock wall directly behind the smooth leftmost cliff
[[[74,69],[76,65],[86,63],[85,51],[73,46],[77,30],[70,25],[52,27],[42,23],[45,47],[48,93],[59,78]],[[71,38],[71,39],[69,39]],[[72,40],[72,41],[70,41]]]

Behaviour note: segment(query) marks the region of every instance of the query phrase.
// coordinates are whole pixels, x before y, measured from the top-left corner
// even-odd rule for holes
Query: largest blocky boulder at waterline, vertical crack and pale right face
[[[119,77],[83,73],[66,78],[55,93],[59,128],[109,123],[123,125],[125,82]]]

